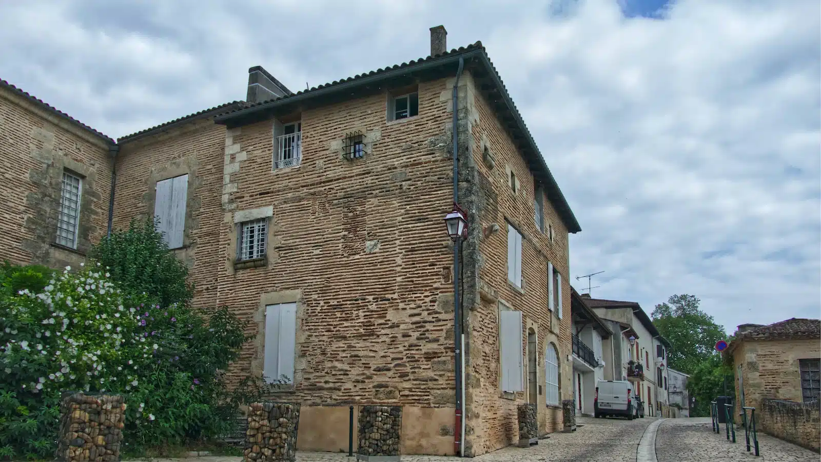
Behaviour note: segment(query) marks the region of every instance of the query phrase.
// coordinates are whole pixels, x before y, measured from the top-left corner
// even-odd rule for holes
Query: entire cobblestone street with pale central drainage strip
[[[509,446],[490,454],[480,455],[476,462],[548,462],[548,461],[602,461],[635,462],[636,450],[645,430],[658,419],[589,419],[581,418],[582,425],[572,433],[551,433],[538,446],[518,448]],[[647,431],[652,432],[652,428]],[[810,462],[819,455],[799,446],[768,435],[759,434],[761,455],[745,451],[744,431],[736,431],[736,443],[727,441],[725,434],[710,431],[710,419],[664,419],[655,437],[658,462]],[[236,462],[240,457],[199,457],[187,462]],[[355,457],[331,452],[297,452],[298,462],[351,462]],[[433,455],[402,455],[403,462],[445,462],[453,457]],[[650,458],[649,460],[652,460]],[[177,462],[180,460],[174,460]],[[162,460],[158,462],[172,462]],[[645,462],[639,457],[639,462]]]

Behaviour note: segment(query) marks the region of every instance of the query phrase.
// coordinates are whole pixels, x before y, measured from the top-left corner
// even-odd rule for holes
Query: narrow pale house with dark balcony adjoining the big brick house
[[[571,312],[574,409],[576,415],[593,416],[596,383],[605,380],[604,369],[612,362],[612,356],[603,355],[603,342],[610,340],[612,331],[573,287]]]

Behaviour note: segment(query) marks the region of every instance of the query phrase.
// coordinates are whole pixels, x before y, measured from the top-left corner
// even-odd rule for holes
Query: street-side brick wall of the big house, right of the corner
[[[537,335],[537,388],[539,432],[554,432],[562,425],[561,406],[545,401],[544,358],[548,343],[556,346],[560,371],[560,396],[571,399],[571,290],[568,283],[568,232],[549,198],[544,199],[544,231],[534,221],[534,176],[525,158],[498,122],[485,98],[473,89],[477,120],[471,127],[475,143],[472,154],[478,170],[479,304],[470,313],[470,373],[467,412],[469,445],[479,455],[518,440],[516,405],[528,402],[527,336]],[[487,147],[487,150],[485,149]],[[489,154],[489,155],[488,155]],[[549,163],[550,158],[546,158]],[[510,187],[510,172],[516,176],[516,192]],[[507,281],[507,223],[522,235],[520,290]],[[548,224],[554,239],[548,236]],[[548,261],[562,274],[562,311],[548,310]],[[523,313],[522,364],[525,391],[503,394],[500,377],[499,311]]]

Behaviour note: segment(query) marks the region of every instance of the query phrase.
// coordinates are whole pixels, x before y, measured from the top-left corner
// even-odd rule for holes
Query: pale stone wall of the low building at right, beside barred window
[[[745,406],[758,409],[764,398],[802,402],[799,359],[821,358],[821,342],[819,339],[742,341],[732,357],[739,398],[737,375],[741,366]],[[738,415],[736,421],[741,422]]]

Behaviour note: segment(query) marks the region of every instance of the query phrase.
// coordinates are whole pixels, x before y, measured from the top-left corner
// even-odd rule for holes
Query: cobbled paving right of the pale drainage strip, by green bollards
[[[723,431],[723,427],[722,427]],[[731,436],[732,437],[732,436]],[[727,433],[712,432],[710,419],[665,419],[656,436],[658,462],[818,462],[819,455],[800,446],[759,433],[759,457],[755,456],[752,441],[746,451],[744,430],[736,429],[736,442],[727,441]]]

